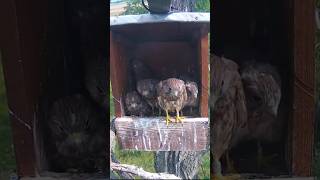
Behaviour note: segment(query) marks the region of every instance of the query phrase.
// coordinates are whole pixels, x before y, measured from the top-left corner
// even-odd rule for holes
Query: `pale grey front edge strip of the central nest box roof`
[[[169,14],[141,14],[110,17],[110,26],[162,22],[193,22],[209,24],[210,13],[179,12]]]

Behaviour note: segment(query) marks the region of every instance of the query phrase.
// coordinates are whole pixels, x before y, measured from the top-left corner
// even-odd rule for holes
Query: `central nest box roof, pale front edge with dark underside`
[[[179,12],[110,17],[110,30],[134,41],[179,41],[207,34],[210,13]]]

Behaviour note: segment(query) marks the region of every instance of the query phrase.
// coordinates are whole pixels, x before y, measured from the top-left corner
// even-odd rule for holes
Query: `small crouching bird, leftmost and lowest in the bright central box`
[[[150,106],[136,91],[131,91],[126,94],[125,104],[129,115],[147,116],[151,113]]]

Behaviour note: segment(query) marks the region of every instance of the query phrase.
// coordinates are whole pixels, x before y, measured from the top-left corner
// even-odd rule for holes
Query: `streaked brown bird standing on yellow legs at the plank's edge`
[[[169,112],[176,112],[176,120],[182,122],[179,111],[185,106],[188,100],[187,90],[184,81],[176,78],[169,78],[160,81],[157,86],[158,104],[166,112],[166,123],[169,124]]]

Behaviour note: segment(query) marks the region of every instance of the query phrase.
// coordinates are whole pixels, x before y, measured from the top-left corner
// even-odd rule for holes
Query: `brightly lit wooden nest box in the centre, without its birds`
[[[206,149],[209,18],[209,13],[110,18],[110,77],[115,126],[122,148],[150,151]],[[160,80],[177,75],[196,78],[199,87],[196,114],[186,118],[183,124],[169,126],[166,126],[164,116],[126,116],[124,96],[129,88],[128,78],[131,77],[127,67],[132,58],[150,67]]]

